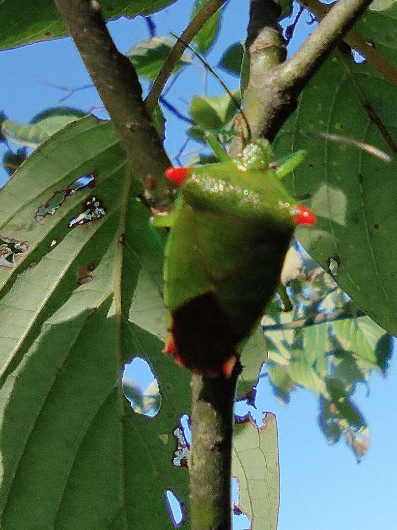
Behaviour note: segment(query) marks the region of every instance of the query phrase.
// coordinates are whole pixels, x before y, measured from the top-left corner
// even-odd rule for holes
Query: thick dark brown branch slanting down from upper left
[[[146,199],[157,209],[168,209],[173,187],[164,172],[170,162],[142,101],[131,61],[115,47],[97,0],[56,0],[56,4],[121,137],[131,169],[146,188]]]

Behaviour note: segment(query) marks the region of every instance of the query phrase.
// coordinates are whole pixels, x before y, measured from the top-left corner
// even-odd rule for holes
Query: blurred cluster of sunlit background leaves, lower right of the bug
[[[297,261],[292,253],[288,255]],[[299,263],[295,277],[286,275],[293,311],[277,316],[272,311],[273,302],[269,305],[271,316],[264,321],[269,381],[277,397],[285,402],[296,385],[316,393],[324,434],[331,443],[342,435],[361,458],[369,445],[369,431],[350,395],[357,382],[368,381],[372,369],[384,372],[393,339],[368,316],[313,325],[313,319],[321,317],[322,312],[350,312],[354,316],[356,308],[346,302],[346,297],[341,302],[341,289],[307,254]],[[280,329],[271,330],[269,326]]]

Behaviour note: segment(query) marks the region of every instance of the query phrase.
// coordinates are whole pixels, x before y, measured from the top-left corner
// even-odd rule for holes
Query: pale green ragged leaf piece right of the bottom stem
[[[234,427],[232,472],[240,486],[239,508],[256,530],[276,530],[279,463],[276,417],[266,412],[259,430],[252,422]]]

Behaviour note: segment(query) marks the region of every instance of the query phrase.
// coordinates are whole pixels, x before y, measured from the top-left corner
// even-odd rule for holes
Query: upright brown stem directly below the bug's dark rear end
[[[239,367],[230,379],[192,375],[188,461],[192,530],[231,529],[231,449],[238,374]]]

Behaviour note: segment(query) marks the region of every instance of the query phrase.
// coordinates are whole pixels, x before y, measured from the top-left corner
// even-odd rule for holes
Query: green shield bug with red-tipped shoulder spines
[[[295,225],[315,223],[281,183],[303,158],[275,162],[260,139],[234,160],[167,170],[181,192],[166,247],[165,352],[193,373],[240,369],[239,347],[274,296]]]

